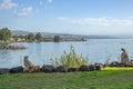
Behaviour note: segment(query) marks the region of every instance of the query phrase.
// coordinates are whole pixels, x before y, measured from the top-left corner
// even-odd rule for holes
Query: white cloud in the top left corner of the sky
[[[0,4],[0,10],[11,9],[14,7],[18,7],[18,4],[12,2],[12,0],[3,0],[2,3]]]

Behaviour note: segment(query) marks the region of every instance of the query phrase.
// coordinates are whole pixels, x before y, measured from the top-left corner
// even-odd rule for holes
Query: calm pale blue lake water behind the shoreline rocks
[[[23,66],[24,56],[29,56],[34,65],[48,65],[51,63],[51,57],[59,58],[64,50],[69,52],[71,44],[78,53],[82,53],[92,63],[104,63],[109,57],[111,61],[117,60],[121,48],[125,48],[129,56],[133,57],[133,39],[90,39],[83,42],[21,42],[16,44],[23,44],[27,49],[0,50],[0,68]]]

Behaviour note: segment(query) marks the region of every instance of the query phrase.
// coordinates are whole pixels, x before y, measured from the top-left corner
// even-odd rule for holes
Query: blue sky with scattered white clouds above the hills
[[[133,0],[0,0],[0,28],[74,34],[133,33]]]

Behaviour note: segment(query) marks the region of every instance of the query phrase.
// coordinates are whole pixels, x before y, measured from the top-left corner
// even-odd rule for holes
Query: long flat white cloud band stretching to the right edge
[[[91,24],[91,26],[133,26],[133,19],[111,19],[111,18],[57,18],[60,21],[69,21],[76,24]]]

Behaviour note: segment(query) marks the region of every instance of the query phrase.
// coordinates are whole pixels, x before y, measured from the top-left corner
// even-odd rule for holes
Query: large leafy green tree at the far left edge
[[[0,40],[9,41],[11,38],[11,31],[8,28],[0,29]]]

